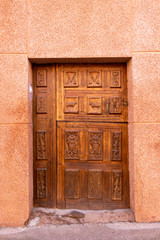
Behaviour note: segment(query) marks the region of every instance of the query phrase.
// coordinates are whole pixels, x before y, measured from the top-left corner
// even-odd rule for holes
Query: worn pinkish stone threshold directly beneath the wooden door
[[[130,209],[117,210],[79,210],[33,208],[26,226],[41,226],[44,224],[85,224],[85,223],[115,223],[134,222],[134,213]]]

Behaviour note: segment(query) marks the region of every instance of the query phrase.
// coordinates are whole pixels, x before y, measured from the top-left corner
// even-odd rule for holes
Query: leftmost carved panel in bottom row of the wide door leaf
[[[65,170],[65,198],[79,198],[79,171]]]

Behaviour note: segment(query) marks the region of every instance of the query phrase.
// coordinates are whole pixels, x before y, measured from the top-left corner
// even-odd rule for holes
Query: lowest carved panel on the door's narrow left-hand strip
[[[46,198],[46,168],[39,168],[37,169],[37,198],[43,199]]]

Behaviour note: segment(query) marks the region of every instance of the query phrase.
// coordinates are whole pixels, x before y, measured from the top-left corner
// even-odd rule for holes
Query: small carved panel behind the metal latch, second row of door
[[[120,97],[110,97],[109,98],[109,113],[122,112],[122,100]]]

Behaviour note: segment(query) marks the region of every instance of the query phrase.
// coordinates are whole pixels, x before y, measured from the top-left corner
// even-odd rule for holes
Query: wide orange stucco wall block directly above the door
[[[29,1],[29,57],[126,57],[131,54],[126,0]]]

